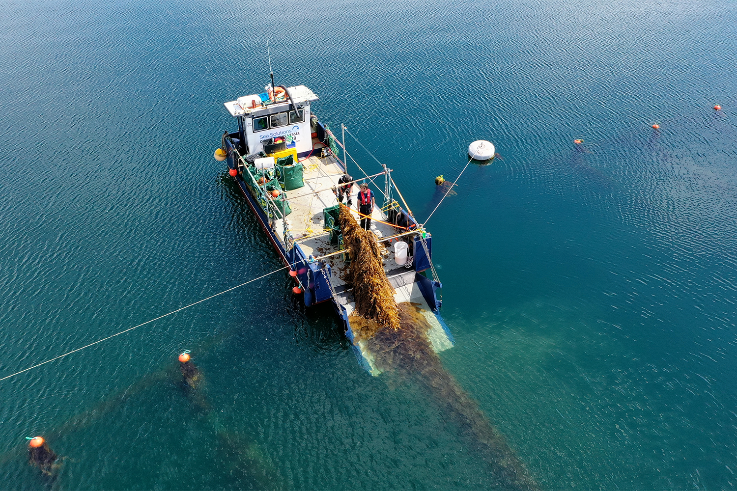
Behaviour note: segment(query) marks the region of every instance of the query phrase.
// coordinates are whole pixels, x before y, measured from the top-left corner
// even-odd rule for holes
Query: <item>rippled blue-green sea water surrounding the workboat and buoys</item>
[[[280,266],[212,160],[222,103],[267,82],[268,36],[277,82],[318,93],[420,217],[469,141],[497,144],[429,224],[456,339],[441,358],[543,490],[734,487],[730,2],[2,10],[0,375]],[[363,372],[290,286],[0,382],[4,487],[495,486],[441,405]],[[178,383],[184,349],[212,411]],[[33,434],[69,457],[54,480],[25,462]]]

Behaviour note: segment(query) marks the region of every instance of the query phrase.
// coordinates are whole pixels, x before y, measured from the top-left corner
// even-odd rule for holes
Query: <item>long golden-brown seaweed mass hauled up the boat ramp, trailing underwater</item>
[[[356,340],[365,343],[381,370],[416,381],[430,392],[473,450],[489,464],[495,485],[506,490],[539,490],[504,437],[442,366],[427,336],[430,324],[422,312],[411,303],[397,305],[376,236],[358,227],[346,206],[340,206],[339,220],[351,257],[346,279],[354,288],[356,308],[350,321]]]

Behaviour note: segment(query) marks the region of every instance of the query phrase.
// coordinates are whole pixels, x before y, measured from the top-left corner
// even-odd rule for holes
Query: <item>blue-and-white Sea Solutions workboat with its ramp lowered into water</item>
[[[340,125],[338,141],[312,110],[318,96],[304,85],[272,87],[224,103],[238,127],[223,133],[215,158],[227,162],[274,250],[289,266],[295,294],[303,296],[308,308],[332,303],[360,364],[372,375],[381,372],[351,328],[355,303],[345,279],[350,258],[338,227],[335,193],[338,178],[350,170],[360,176],[356,183],[368,183],[376,196],[371,232],[383,245],[383,267],[394,299],[422,312],[433,350],[452,347],[453,336],[439,314],[442,285],[432,262],[433,237],[413,216],[391,169],[382,165],[380,172],[367,175],[355,160],[348,169],[352,157],[346,152],[346,128]]]

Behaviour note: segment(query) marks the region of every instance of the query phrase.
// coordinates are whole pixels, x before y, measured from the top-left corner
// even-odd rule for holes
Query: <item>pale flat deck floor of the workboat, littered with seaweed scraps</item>
[[[332,192],[332,187],[337,186],[338,177],[343,175],[343,169],[340,167],[340,163],[332,156],[326,158],[311,156],[307,160],[303,160],[302,165],[304,166],[304,187],[286,191],[287,199],[292,209],[292,213],[287,215],[287,228],[291,231],[296,243],[299,244],[299,247],[307,255],[319,257],[330,252],[337,252],[341,246],[330,244],[329,232],[323,230],[323,210],[324,208],[338,204],[338,198]],[[380,177],[380,179],[382,178]],[[380,203],[383,202],[381,191],[376,186],[372,186],[372,188],[374,189],[374,193],[377,194],[377,206],[374,207],[374,211],[371,213],[371,231],[379,238],[396,235],[397,232],[394,230],[394,227],[377,222],[377,220],[385,222],[386,216],[380,209]],[[357,192],[357,186],[354,186],[352,211],[354,212],[354,217],[360,219],[355,209],[358,201],[355,196]],[[276,235],[279,236],[280,240],[284,241],[284,224],[281,219],[276,221],[275,229]],[[385,246],[383,257],[384,270],[388,276],[396,275],[398,272],[396,271],[397,269],[401,269],[399,272],[411,271],[412,275],[414,275],[413,269],[408,270],[403,266],[399,266],[398,268],[394,262],[394,248],[390,247],[388,243],[383,243],[383,245]],[[343,255],[333,255],[325,258],[324,261],[332,269],[332,285],[335,291],[345,291],[347,287],[344,275],[347,270],[347,264],[343,261]]]

